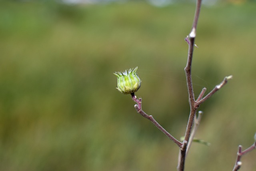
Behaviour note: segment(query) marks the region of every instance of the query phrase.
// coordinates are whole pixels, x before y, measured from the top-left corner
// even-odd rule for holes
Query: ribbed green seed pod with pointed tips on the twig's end
[[[138,67],[125,70],[124,72],[115,72],[117,76],[117,88],[123,94],[130,94],[138,91],[140,88],[140,78],[136,73]]]

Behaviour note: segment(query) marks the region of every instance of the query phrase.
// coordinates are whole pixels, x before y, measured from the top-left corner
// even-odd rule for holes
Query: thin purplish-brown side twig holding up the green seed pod
[[[136,105],[134,105],[135,109],[137,110],[138,113],[140,113],[140,115],[142,115],[143,117],[145,117],[146,119],[150,120],[154,125],[156,125],[156,127],[158,127],[158,129],[160,129],[167,137],[169,137],[174,143],[176,143],[178,145],[179,148],[182,147],[182,143],[180,141],[178,141],[176,138],[174,138],[170,133],[168,133],[155,119],[152,115],[148,115],[146,114],[143,110],[142,110],[142,98],[137,99],[136,95],[134,95],[134,93],[131,93],[132,95],[132,99],[137,103]]]

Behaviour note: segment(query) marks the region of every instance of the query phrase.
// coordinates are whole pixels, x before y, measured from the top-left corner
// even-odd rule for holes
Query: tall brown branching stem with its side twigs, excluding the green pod
[[[180,153],[179,153],[179,157],[178,157],[178,166],[177,166],[178,171],[184,171],[186,153],[188,152],[188,148],[191,145],[190,136],[191,136],[191,131],[192,131],[193,123],[194,123],[194,118],[195,118],[196,111],[197,111],[198,107],[200,106],[201,103],[206,101],[206,99],[208,99],[214,93],[216,93],[216,91],[218,91],[220,88],[222,88],[228,82],[229,79],[232,78],[232,76],[225,77],[224,80],[220,84],[216,85],[216,87],[214,89],[212,89],[212,91],[210,91],[210,93],[208,93],[208,95],[206,95],[205,97],[203,97],[203,96],[204,96],[204,93],[206,92],[206,88],[203,88],[199,97],[198,97],[198,99],[195,100],[193,84],[192,84],[191,68],[192,68],[192,57],[193,57],[193,50],[194,50],[194,42],[195,42],[195,38],[196,38],[196,27],[197,27],[197,23],[198,23],[201,3],[202,3],[202,0],[197,0],[196,1],[196,11],[195,11],[195,15],[194,15],[194,21],[193,21],[193,24],[192,24],[192,30],[191,30],[189,36],[187,36],[185,38],[185,41],[188,43],[188,46],[189,46],[189,48],[188,48],[188,60],[187,60],[187,64],[186,64],[186,67],[184,68],[184,70],[185,70],[185,73],[186,73],[186,82],[187,82],[187,87],[188,87],[190,114],[189,114],[189,118],[188,118],[186,133],[185,133],[185,136],[184,136],[184,141],[181,143],[180,141],[175,139],[170,133],[168,133],[152,117],[152,115],[146,114],[142,110],[142,106],[141,106],[142,105],[142,99],[141,98],[137,99],[137,97],[134,95],[134,93],[131,93],[132,99],[137,103],[136,105],[134,105],[137,112],[140,113],[140,115],[142,115],[146,119],[150,120],[154,125],[156,125],[156,127],[158,127],[158,129],[160,129],[167,137],[169,137],[172,141],[174,141],[174,143],[176,143],[176,145],[178,145],[178,147],[180,148]],[[200,121],[199,116],[196,119],[196,121],[197,122]],[[198,127],[198,125],[194,126],[194,128],[193,128],[194,131],[193,131],[192,137],[194,136],[194,133],[195,133],[197,127]]]

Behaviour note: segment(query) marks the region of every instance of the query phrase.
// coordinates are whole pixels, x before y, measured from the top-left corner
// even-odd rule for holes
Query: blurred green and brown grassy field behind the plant
[[[174,171],[178,147],[134,109],[112,73],[138,66],[143,109],[177,139],[189,105],[184,67],[194,3],[0,2],[1,171]],[[225,76],[187,171],[232,170],[256,132],[256,4],[202,6],[195,95]],[[256,170],[256,151],[241,171]]]

